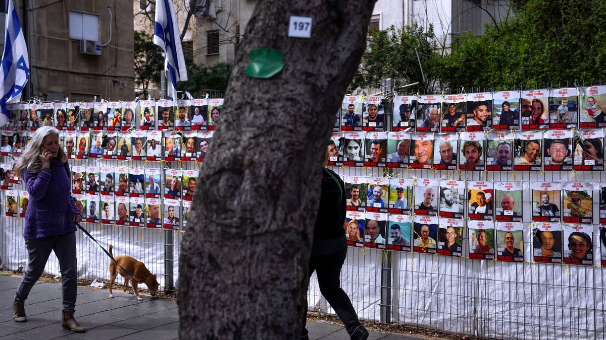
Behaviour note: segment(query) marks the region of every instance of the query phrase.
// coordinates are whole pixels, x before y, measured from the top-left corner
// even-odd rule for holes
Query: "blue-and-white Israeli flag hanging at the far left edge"
[[[23,30],[21,30],[21,23],[13,5],[13,0],[8,0],[6,4],[6,36],[0,74],[2,75],[0,126],[2,126],[8,122],[6,103],[8,100],[21,99],[21,91],[23,91],[27,79],[30,78],[27,46],[25,46],[25,37],[23,36]]]

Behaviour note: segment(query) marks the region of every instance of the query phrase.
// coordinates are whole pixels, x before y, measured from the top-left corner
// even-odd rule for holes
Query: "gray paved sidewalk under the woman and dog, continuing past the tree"
[[[178,339],[179,313],[174,301],[108,290],[79,288],[76,319],[86,333],[72,333],[61,328],[61,284],[38,282],[25,301],[27,322],[14,322],[12,301],[19,278],[0,275],[0,337],[2,339]],[[310,339],[348,339],[344,327],[307,322]],[[370,332],[369,340],[427,339],[388,333]]]

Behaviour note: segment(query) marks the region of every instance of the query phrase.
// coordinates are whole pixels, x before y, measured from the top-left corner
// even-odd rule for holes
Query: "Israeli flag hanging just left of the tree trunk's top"
[[[164,50],[164,71],[168,74],[167,95],[177,100],[177,82],[187,80],[187,70],[175,8],[171,0],[156,1],[153,43]]]

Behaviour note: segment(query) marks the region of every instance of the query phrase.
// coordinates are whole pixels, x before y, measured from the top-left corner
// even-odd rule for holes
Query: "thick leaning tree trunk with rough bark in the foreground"
[[[321,166],[375,0],[258,2],[201,168],[179,258],[183,339],[299,339]],[[313,18],[288,38],[290,15]],[[245,76],[276,48],[284,70]]]

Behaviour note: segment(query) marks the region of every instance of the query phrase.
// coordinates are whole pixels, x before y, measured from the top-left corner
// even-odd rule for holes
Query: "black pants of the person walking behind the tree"
[[[341,289],[339,276],[341,276],[341,267],[343,266],[345,257],[347,257],[347,248],[327,255],[311,255],[309,260],[309,276],[311,277],[314,270],[316,271],[320,292],[324,295],[330,306],[333,307],[339,319],[343,321],[345,330],[351,336],[351,333],[361,324],[358,321],[356,310],[351,306],[349,297]],[[307,336],[307,329],[305,329],[306,322],[307,300],[305,300],[305,313],[303,313],[302,336]]]

